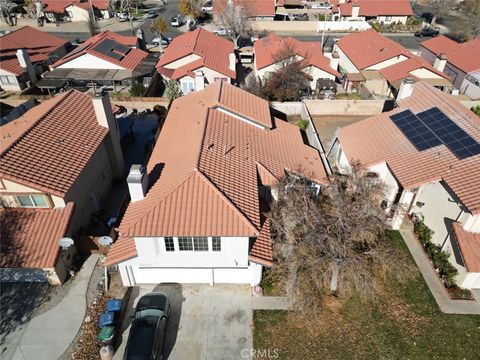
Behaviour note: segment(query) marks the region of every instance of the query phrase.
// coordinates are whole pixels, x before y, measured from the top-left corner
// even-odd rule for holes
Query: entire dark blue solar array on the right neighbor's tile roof
[[[416,115],[405,110],[390,119],[418,151],[444,144],[459,159],[480,154],[480,144],[436,107]]]

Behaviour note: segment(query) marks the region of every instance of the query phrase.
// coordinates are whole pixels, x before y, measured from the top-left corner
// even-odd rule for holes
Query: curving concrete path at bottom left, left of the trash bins
[[[30,320],[12,359],[54,360],[65,352],[83,322],[87,305],[85,294],[97,261],[98,255],[91,255],[63,300]]]

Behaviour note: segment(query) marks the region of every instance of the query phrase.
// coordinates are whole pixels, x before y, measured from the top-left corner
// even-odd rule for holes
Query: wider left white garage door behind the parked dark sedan
[[[172,269],[132,266],[136,284],[158,284],[162,282],[184,284],[209,284],[212,282],[212,269]]]

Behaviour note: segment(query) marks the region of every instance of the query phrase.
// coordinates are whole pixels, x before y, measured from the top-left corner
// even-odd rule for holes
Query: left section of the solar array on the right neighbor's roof
[[[440,139],[410,110],[392,115],[390,119],[418,151],[427,150],[442,144]]]

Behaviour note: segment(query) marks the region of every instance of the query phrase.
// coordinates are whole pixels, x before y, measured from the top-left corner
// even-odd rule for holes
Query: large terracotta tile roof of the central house
[[[291,171],[326,184],[320,155],[297,126],[241,120],[268,109],[221,81],[175,100],[147,165],[151,187],[128,206],[120,236],[259,236],[259,163],[270,182]]]

